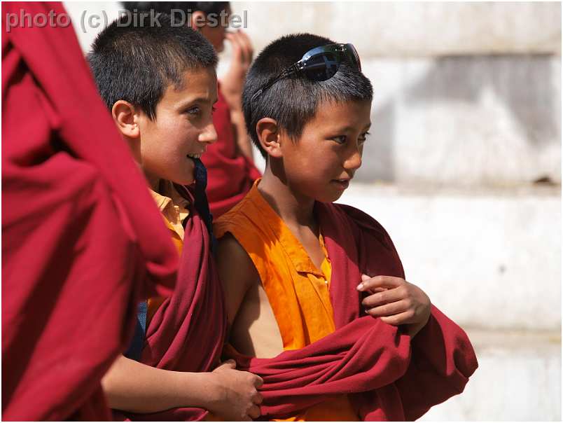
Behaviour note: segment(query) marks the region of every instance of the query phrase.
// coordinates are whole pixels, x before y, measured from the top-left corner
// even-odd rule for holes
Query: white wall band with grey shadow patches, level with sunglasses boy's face
[[[561,57],[369,59],[372,136],[362,181],[561,182]]]

